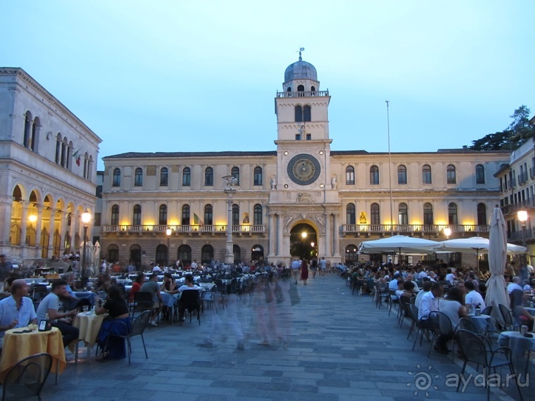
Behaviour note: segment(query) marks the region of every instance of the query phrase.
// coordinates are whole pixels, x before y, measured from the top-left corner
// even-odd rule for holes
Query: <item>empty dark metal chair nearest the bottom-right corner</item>
[[[462,369],[460,371],[460,376],[464,376],[466,365],[468,362],[472,362],[479,365],[483,365],[483,374],[484,374],[484,385],[486,387],[486,399],[490,400],[490,390],[488,377],[491,374],[491,370],[496,372],[497,367],[508,366],[510,374],[512,377],[516,378],[515,368],[512,366],[511,360],[511,350],[508,347],[499,347],[496,350],[489,350],[486,348],[485,343],[479,336],[471,331],[459,330],[457,332],[457,338],[460,346],[462,355],[465,358],[465,363],[462,364]],[[518,381],[513,380],[517,385],[518,394],[520,395],[520,400],[522,401],[522,393],[520,392],[520,387],[518,386]],[[459,381],[457,386],[457,391],[459,391],[461,381]]]

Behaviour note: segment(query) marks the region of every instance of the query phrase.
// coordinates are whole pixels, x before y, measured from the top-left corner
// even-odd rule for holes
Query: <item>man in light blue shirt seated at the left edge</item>
[[[28,285],[24,280],[14,280],[11,296],[0,301],[0,341],[4,343],[4,332],[28,324],[37,324],[35,308],[28,295]]]

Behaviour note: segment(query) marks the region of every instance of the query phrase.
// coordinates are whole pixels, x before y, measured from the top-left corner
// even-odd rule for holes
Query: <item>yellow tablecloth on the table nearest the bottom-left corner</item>
[[[32,333],[13,334],[27,327],[6,331],[4,348],[0,358],[0,381],[4,380],[9,368],[30,355],[47,352],[52,355],[52,371],[61,373],[65,369],[65,350],[61,332],[52,327],[50,331],[33,331]]]

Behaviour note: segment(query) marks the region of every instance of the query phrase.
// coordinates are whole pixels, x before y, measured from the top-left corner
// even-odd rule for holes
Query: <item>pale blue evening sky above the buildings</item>
[[[333,150],[436,151],[535,115],[535,1],[2,1],[21,67],[127,151],[267,151],[303,60],[329,89]],[[99,169],[103,164],[99,161]]]

